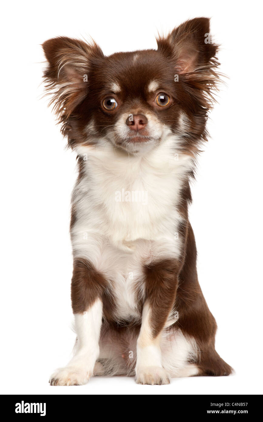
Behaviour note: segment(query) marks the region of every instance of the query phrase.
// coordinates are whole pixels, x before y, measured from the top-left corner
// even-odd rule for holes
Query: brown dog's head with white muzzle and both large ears
[[[43,44],[46,88],[72,148],[111,142],[144,154],[176,135],[182,151],[198,150],[218,80],[209,19],[187,21],[157,45],[105,57],[95,43],[59,37]]]

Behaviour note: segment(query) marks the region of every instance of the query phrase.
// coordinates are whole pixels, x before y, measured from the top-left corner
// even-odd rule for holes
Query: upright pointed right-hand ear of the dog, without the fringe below
[[[212,43],[208,18],[188,20],[157,40],[158,50],[172,55],[177,73],[193,73],[213,65],[218,46]],[[212,61],[211,61],[212,60]]]

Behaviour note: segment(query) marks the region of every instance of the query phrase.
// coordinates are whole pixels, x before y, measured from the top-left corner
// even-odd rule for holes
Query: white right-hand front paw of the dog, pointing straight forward
[[[159,366],[144,366],[136,371],[137,384],[164,385],[170,384],[169,373]]]

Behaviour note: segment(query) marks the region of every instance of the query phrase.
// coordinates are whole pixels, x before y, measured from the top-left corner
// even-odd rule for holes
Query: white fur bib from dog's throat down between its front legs
[[[145,157],[129,157],[109,144],[78,151],[85,173],[72,196],[73,254],[90,260],[112,283],[120,319],[136,316],[134,286],[142,265],[180,254],[177,206],[193,162],[173,146],[167,138]]]

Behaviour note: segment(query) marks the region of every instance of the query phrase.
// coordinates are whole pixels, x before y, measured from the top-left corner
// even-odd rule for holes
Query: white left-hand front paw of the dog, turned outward
[[[89,381],[92,371],[78,366],[57,369],[50,377],[50,385],[84,385]]]

